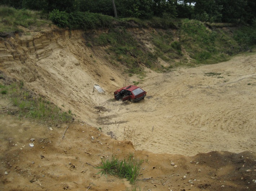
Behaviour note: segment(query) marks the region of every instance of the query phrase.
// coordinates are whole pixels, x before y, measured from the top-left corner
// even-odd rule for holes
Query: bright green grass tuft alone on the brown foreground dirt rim
[[[111,174],[117,175],[121,178],[127,178],[131,183],[135,183],[137,177],[141,171],[142,160],[138,160],[133,157],[133,155],[129,155],[128,159],[118,160],[117,158],[112,157],[109,159],[101,159],[101,166],[96,167],[100,169],[101,174]]]

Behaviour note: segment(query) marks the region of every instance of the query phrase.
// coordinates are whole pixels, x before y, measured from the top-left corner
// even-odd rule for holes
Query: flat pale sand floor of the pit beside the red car
[[[100,104],[104,132],[154,153],[256,152],[255,55],[165,74],[151,71],[139,85],[147,92],[140,102]]]

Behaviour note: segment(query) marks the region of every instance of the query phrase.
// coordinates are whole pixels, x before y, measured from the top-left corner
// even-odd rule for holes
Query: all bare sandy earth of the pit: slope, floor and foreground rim
[[[140,79],[85,46],[82,32],[69,36],[55,29],[1,40],[1,71],[76,117],[59,127],[18,118],[2,96],[0,190],[133,190],[94,168],[131,153],[144,160],[136,190],[256,189],[255,54],[164,74],[146,69],[139,85],[147,97],[129,103],[114,101],[113,91]]]

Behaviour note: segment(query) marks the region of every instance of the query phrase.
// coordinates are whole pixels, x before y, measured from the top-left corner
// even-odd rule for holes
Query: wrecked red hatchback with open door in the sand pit
[[[135,85],[128,85],[127,87],[120,88],[114,92],[115,99],[122,99],[123,102],[130,100],[131,102],[137,102],[144,99],[147,92]]]

